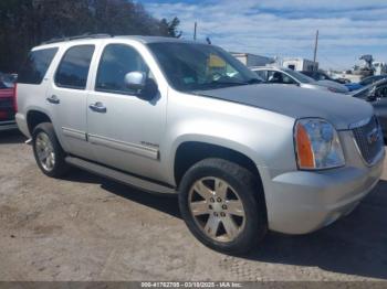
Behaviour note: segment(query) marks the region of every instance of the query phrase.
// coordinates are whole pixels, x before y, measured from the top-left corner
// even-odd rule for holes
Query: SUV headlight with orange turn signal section
[[[337,131],[323,119],[297,120],[294,142],[299,169],[320,170],[345,165]]]

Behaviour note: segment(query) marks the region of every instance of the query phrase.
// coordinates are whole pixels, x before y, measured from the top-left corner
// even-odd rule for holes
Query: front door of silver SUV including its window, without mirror
[[[159,89],[151,100],[142,99],[125,86],[129,72],[144,72],[154,78],[135,47],[106,45],[96,72],[95,90],[87,97],[88,141],[98,162],[158,179],[167,89]]]

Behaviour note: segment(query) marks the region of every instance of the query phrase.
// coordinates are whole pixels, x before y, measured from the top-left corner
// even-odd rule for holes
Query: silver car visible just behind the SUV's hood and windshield
[[[296,85],[303,88],[330,90],[339,94],[348,93],[348,88],[342,84],[331,81],[316,82],[315,79],[290,68],[261,66],[250,67],[250,69],[255,72],[266,83],[271,84]]]

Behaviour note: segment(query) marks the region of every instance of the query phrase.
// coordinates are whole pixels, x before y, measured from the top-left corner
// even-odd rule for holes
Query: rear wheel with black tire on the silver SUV
[[[43,149],[45,147],[48,149]],[[60,178],[69,171],[69,164],[64,160],[66,153],[59,143],[51,122],[42,122],[33,129],[32,148],[38,167],[45,175]]]

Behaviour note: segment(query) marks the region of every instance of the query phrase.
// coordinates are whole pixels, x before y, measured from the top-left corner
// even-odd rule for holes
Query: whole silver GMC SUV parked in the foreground
[[[17,122],[42,172],[70,165],[178,193],[207,246],[240,253],[266,229],[304,234],[348,214],[385,156],[366,101],[260,84],[222,49],[88,36],[34,47]]]

